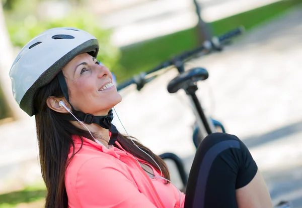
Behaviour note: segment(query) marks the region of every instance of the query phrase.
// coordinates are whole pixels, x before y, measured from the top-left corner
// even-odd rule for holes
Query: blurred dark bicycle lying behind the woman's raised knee
[[[219,127],[222,132],[225,133],[225,128],[223,125],[217,121],[212,119],[211,117],[207,117],[204,113],[204,110],[200,104],[198,97],[196,96],[196,91],[198,90],[197,82],[203,81],[208,78],[208,72],[204,68],[195,67],[189,70],[185,70],[184,63],[189,61],[190,59],[200,57],[203,55],[210,54],[214,51],[222,51],[222,47],[228,43],[230,40],[238,35],[241,35],[244,31],[243,27],[236,28],[228,33],[225,33],[219,37],[213,37],[211,40],[205,41],[204,44],[200,47],[197,47],[193,50],[186,51],[177,55],[168,61],[163,62],[159,66],[155,67],[148,72],[140,73],[133,78],[117,85],[117,90],[120,91],[123,88],[128,87],[129,85],[135,84],[136,89],[140,91],[145,84],[151,82],[158,76],[159,74],[147,76],[158,72],[163,69],[168,69],[175,67],[179,75],[171,80],[167,86],[167,90],[169,93],[176,93],[178,90],[183,89],[186,94],[189,96],[192,103],[192,110],[196,117],[196,125],[194,126],[192,140],[197,148],[199,143],[205,138],[208,134],[216,132],[215,127]],[[171,159],[175,162],[177,169],[179,171],[182,183],[184,187],[187,184],[187,173],[184,168],[184,164],[180,157],[176,154],[167,152],[160,155],[162,159]],[[279,204],[275,206],[275,208],[289,208],[292,207],[290,202],[281,201]]]

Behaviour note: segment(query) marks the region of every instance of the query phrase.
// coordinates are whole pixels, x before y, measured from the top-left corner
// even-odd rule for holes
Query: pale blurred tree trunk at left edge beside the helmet
[[[17,120],[25,118],[26,113],[19,108],[12,93],[12,82],[9,71],[14,62],[14,58],[13,46],[6,27],[3,8],[0,6],[0,86],[4,93],[5,102],[10,110],[9,114]]]

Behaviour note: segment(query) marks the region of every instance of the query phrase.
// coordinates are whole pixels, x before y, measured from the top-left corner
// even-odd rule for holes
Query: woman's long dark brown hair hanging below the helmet
[[[47,106],[46,99],[49,96],[63,97],[56,78],[39,90],[34,106],[37,112],[35,118],[41,172],[47,188],[45,207],[67,208],[68,198],[64,184],[65,170],[73,155],[77,153],[74,152],[74,143],[71,136],[78,135],[81,139],[82,137],[91,140],[94,139],[89,132],[75,127],[68,121],[61,120],[59,113],[51,110]],[[158,169],[157,164],[139,150],[126,136],[119,134],[117,141],[127,152]],[[137,140],[134,140],[134,142],[154,158],[162,169],[163,175],[170,180],[169,171],[165,162]],[[73,147],[73,154],[71,158],[68,159],[68,152],[71,146]]]

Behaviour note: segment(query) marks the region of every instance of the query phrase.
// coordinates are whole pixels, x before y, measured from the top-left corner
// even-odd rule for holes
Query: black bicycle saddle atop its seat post
[[[208,72],[204,68],[192,68],[178,75],[168,84],[168,92],[175,93],[179,89],[184,89],[188,83],[206,80],[209,77]]]

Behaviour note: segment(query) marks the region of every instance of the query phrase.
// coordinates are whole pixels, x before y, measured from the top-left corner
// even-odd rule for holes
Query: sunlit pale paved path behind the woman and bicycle
[[[208,113],[248,145],[273,200],[291,199],[295,207],[302,207],[301,11],[251,31],[223,53],[188,64],[208,69],[198,96]],[[175,75],[170,71],[141,92],[125,89],[116,110],[131,135],[156,153],[179,154],[189,169],[194,116],[183,92],[166,90]],[[0,135],[0,191],[37,179],[34,120],[0,126]]]

